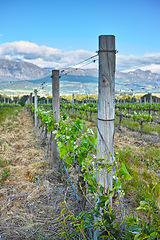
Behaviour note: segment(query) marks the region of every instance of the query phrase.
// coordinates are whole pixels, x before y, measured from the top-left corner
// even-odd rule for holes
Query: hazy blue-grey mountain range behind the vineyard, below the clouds
[[[52,69],[40,68],[24,61],[0,59],[0,94],[28,94],[38,88],[51,94]],[[60,92],[97,93],[98,71],[91,69],[60,69]],[[130,72],[116,71],[117,92],[159,92],[160,74],[137,69]]]

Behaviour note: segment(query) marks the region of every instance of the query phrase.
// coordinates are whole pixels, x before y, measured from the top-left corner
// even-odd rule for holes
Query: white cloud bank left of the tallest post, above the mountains
[[[68,67],[91,57],[94,53],[85,50],[62,51],[47,46],[38,46],[27,41],[4,43],[0,45],[0,58],[9,60],[21,59],[37,64],[40,67]]]

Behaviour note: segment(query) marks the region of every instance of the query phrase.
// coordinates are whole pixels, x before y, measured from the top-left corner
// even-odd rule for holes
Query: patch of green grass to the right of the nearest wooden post
[[[126,195],[133,196],[137,205],[147,198],[158,204],[160,183],[157,169],[160,168],[160,148],[154,145],[147,148],[125,145],[122,149],[116,149],[116,155],[132,176],[130,181],[122,178]]]

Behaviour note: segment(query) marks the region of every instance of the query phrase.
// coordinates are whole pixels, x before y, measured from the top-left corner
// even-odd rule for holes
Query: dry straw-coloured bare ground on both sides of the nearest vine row
[[[95,128],[91,122],[87,125]],[[58,178],[52,169],[50,157],[41,147],[41,130],[34,128],[33,119],[23,109],[14,121],[5,120],[0,132],[0,238],[63,239],[58,235],[60,220],[57,217],[63,208],[60,203],[65,198],[73,212],[77,211],[78,204],[65,173]],[[135,154],[140,154],[142,149],[147,151],[152,146],[160,148],[158,136],[141,136],[125,128],[121,132],[116,129],[115,151],[120,152],[121,158],[129,158],[128,167],[133,161],[132,149],[136,149]],[[142,173],[141,164],[137,169]],[[160,165],[156,174],[160,175]],[[70,176],[74,181],[73,169]],[[133,190],[126,191],[124,205],[128,212],[136,206],[134,194]]]

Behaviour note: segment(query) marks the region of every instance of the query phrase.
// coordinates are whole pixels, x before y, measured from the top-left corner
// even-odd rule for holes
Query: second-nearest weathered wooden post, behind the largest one
[[[59,70],[52,70],[52,107],[53,107],[53,121],[59,122],[60,119],[60,101],[59,101]],[[54,125],[54,130],[56,126]],[[57,141],[55,134],[52,139],[52,161],[53,167],[59,170],[59,153],[57,150]]]

